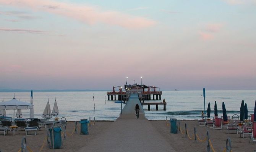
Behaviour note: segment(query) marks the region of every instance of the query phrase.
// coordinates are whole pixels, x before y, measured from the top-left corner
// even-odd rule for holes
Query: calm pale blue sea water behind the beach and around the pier
[[[93,98],[95,100],[95,108]],[[165,98],[167,102],[166,111],[163,111],[162,105],[159,105],[159,111],[156,106],[151,105],[151,111],[144,111],[149,120],[165,120],[170,117],[177,119],[201,119],[201,111],[204,109],[203,91],[163,91],[162,100]],[[16,92],[16,99],[30,102],[30,92]],[[105,91],[95,92],[34,92],[34,116],[41,117],[49,97],[51,108],[53,108],[54,98],[56,97],[59,118],[66,117],[67,120],[80,120],[95,117],[97,120],[115,120],[121,111],[121,104],[114,101],[106,101]],[[0,92],[0,101],[11,100],[12,92]],[[152,98],[152,97],[151,97]],[[222,101],[225,102],[227,115],[239,115],[241,100],[244,100],[248,106],[248,114],[253,113],[254,103],[256,100],[256,90],[208,90],[206,91],[206,109],[208,102],[211,103],[211,117],[214,116],[214,101],[217,101],[219,116],[222,116]],[[160,102],[160,100],[158,100]],[[146,101],[147,102],[147,101]],[[151,100],[149,102],[156,102]],[[125,104],[122,105],[124,107]],[[29,117],[29,110],[22,110],[23,118]],[[16,111],[15,111],[16,114]],[[13,110],[6,110],[6,116],[13,116]],[[134,115],[135,117],[135,115]]]

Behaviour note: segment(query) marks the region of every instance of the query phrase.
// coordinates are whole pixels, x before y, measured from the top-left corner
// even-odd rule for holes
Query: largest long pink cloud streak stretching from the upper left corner
[[[86,24],[104,23],[124,28],[137,29],[150,27],[155,21],[145,17],[131,16],[118,11],[101,11],[96,6],[76,5],[53,0],[0,0],[0,4],[31,8],[52,14],[70,17]]]

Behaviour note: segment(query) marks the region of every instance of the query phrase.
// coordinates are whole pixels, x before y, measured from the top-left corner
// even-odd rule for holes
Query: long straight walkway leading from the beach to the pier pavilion
[[[101,135],[84,143],[79,152],[175,152],[144,116],[140,106],[139,119],[135,117],[138,95],[131,96],[122,115]],[[90,132],[90,130],[89,130]]]

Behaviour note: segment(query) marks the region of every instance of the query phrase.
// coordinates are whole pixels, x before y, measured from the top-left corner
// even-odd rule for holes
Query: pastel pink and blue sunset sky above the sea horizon
[[[256,89],[255,16],[256,0],[0,0],[0,89]]]

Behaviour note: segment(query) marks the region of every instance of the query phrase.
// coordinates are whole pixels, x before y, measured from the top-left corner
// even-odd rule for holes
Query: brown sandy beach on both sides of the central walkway
[[[138,120],[138,121],[143,121],[143,120]],[[206,151],[206,145],[207,145],[206,142],[190,140],[188,138],[185,138],[185,135],[181,133],[170,134],[170,127],[165,124],[165,121],[161,120],[161,121],[148,121],[148,122],[154,128],[153,130],[154,132],[148,132],[147,134],[140,134],[139,132],[136,132],[136,134],[139,134],[141,138],[150,139],[152,140],[152,142],[157,142],[155,139],[150,137],[151,137],[151,134],[159,134],[176,151],[184,151],[184,152]],[[206,137],[206,130],[208,129],[210,133],[210,140],[216,152],[220,152],[220,151],[222,152],[224,150],[227,137],[231,138],[233,152],[245,151],[245,149],[246,151],[254,151],[256,149],[255,144],[253,143],[249,144],[248,136],[247,138],[243,139],[243,138],[240,138],[240,134],[235,134],[235,133],[228,134],[227,130],[225,129],[214,130],[212,128],[198,126],[197,120],[187,120],[187,121],[181,120],[180,124],[183,130],[185,129],[185,123],[187,123],[188,131],[191,136],[193,136],[194,126],[196,126],[199,138],[201,139],[204,139]],[[55,149],[55,150],[49,149],[49,145],[47,144],[47,141],[46,141],[44,144],[44,147],[42,148],[42,152],[48,152],[48,151],[70,152],[70,151],[78,151],[81,148],[86,149],[87,147],[90,147],[90,145],[88,145],[89,142],[96,140],[100,135],[106,133],[106,131],[110,127],[113,127],[113,125],[115,125],[114,122],[110,122],[110,121],[103,121],[103,122],[96,121],[95,125],[91,125],[89,127],[89,135],[80,135],[79,131],[78,131],[78,134],[73,133],[73,135],[71,136],[67,135],[66,139],[63,139],[64,149]],[[72,133],[73,128],[74,128],[74,122],[68,122],[68,125],[67,125],[68,134]],[[21,139],[23,138],[23,136],[26,136],[25,131],[20,131],[20,130],[15,131],[15,135],[13,135],[12,131],[9,131],[8,135],[6,136],[1,135],[1,142],[0,142],[0,149],[2,150],[1,152],[18,152],[18,150],[20,149]],[[39,152],[44,142],[45,136],[46,136],[45,128],[42,128],[41,131],[38,131],[38,134],[36,136],[26,136],[27,142],[28,142],[27,146],[33,152]],[[107,141],[108,139],[103,139],[103,140]],[[138,142],[143,143],[143,141],[138,141]],[[129,145],[129,143],[130,142],[127,140],[122,141],[123,146]],[[144,144],[143,146],[147,146],[147,143],[143,143],[143,144]],[[157,147],[157,144],[155,146]],[[171,147],[164,147],[164,148],[169,149]],[[162,147],[159,147],[159,149],[160,148]],[[97,148],[95,148],[94,150],[97,151]],[[91,151],[94,151],[94,150],[91,150]],[[130,151],[130,150],[125,150],[125,151]]]

